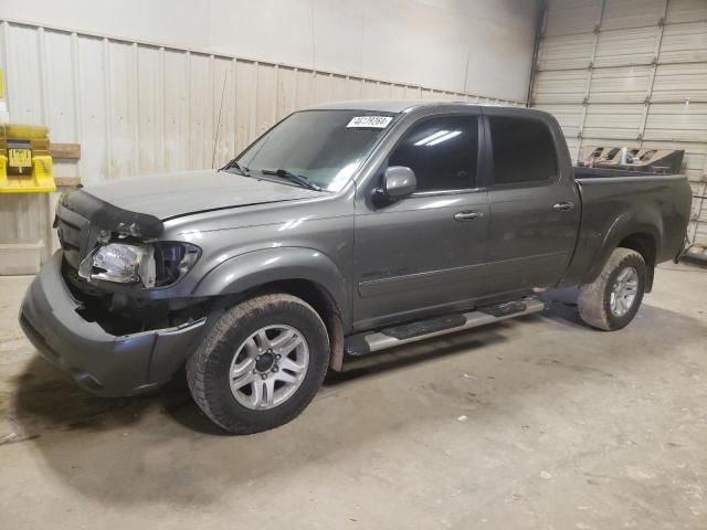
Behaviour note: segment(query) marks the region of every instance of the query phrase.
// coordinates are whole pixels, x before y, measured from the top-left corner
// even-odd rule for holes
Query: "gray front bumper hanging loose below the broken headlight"
[[[169,381],[194,349],[205,317],[175,328],[114,336],[85,320],[61,274],[62,252],[30,285],[20,325],[34,347],[76,383],[98,395],[146,392]]]

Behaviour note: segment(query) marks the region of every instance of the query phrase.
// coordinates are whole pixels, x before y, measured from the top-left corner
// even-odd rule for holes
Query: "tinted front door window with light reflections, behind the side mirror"
[[[426,119],[410,129],[388,161],[415,172],[418,191],[474,188],[478,158],[476,116]]]

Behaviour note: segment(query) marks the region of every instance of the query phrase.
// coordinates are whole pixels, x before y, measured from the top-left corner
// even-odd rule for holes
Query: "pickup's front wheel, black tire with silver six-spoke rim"
[[[281,335],[270,337],[277,332]],[[304,340],[285,353],[288,344],[276,344],[289,332],[294,333],[291,342],[297,341],[296,333]],[[265,349],[261,347],[263,340]],[[294,296],[263,295],[231,308],[215,322],[187,361],[187,382],[194,401],[213,423],[230,433],[253,434],[294,420],[319,390],[328,364],[329,339],[319,315]],[[297,367],[297,371],[289,367]],[[232,378],[236,372],[239,375]],[[285,382],[292,379],[298,379],[298,383]]]

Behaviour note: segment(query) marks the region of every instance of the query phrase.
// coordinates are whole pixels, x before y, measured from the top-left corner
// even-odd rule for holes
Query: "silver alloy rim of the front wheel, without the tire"
[[[256,411],[283,404],[297,391],[309,365],[304,336],[285,325],[265,326],[245,339],[231,361],[231,393]]]

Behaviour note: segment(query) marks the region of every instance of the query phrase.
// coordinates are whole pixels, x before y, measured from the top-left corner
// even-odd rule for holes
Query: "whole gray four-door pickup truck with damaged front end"
[[[297,112],[220,170],[62,194],[25,295],[38,350],[106,396],[186,367],[218,425],[294,418],[344,354],[544,309],[626,326],[683,247],[677,174],[573,169],[548,114],[357,102]]]

